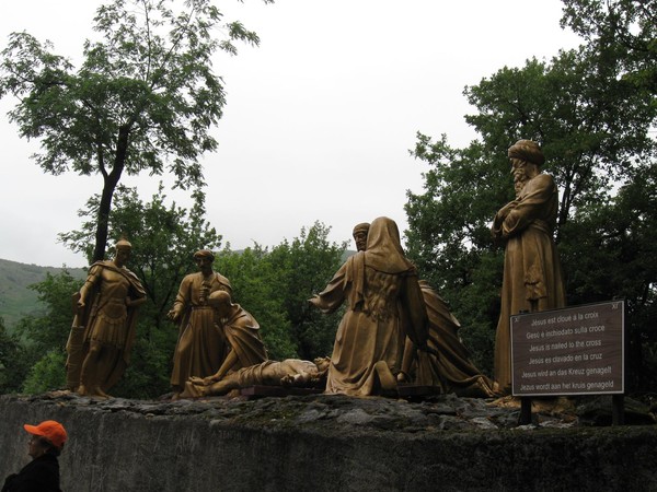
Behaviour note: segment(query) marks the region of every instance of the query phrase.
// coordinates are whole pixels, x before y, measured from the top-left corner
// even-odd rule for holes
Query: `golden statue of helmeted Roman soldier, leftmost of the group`
[[[129,242],[118,241],[114,259],[93,263],[74,295],[67,380],[80,395],[106,398],[128,364],[137,307],[147,300],[141,282],[125,267],[131,250]]]

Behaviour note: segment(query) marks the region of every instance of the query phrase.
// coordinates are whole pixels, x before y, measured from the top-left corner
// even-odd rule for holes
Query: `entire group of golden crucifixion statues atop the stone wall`
[[[552,238],[556,186],[540,171],[544,157],[537,143],[520,140],[508,155],[516,198],[499,210],[492,226],[494,237],[506,243],[495,379],[475,367],[459,337],[459,321],[418,279],[396,223],[380,216],[354,229],[357,253],[309,300],[323,313],[345,305],[332,355],[312,362],[268,360],[257,321],[232,302],[229,280],[214,271],[214,254],[197,251],[198,271],[183,279],[169,312],[180,327],[173,398],[224,395],[256,385],[353,396],[399,395],[404,387],[479,397],[507,394],[509,316],[565,305]],[[106,397],[128,363],[135,313],[146,301],[139,279],[126,268],[130,251],[131,245],[119,241],[115,258],[92,265],[74,296],[67,380],[80,395]]]

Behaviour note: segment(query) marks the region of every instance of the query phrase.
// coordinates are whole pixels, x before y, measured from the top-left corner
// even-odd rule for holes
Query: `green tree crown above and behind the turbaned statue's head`
[[[499,157],[516,140],[541,143],[545,171],[560,186],[560,226],[581,203],[604,199],[637,165],[637,156],[654,151],[648,129],[655,108],[616,74],[614,66],[601,67],[580,48],[562,51],[550,63],[505,67],[465,91],[480,110],[465,119],[489,155],[498,156],[500,171],[508,163]]]

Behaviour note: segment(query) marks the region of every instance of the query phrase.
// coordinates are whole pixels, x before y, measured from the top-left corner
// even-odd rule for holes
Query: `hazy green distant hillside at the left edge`
[[[9,331],[24,315],[44,307],[37,298],[37,293],[27,288],[45,280],[46,273],[57,274],[62,270],[64,268],[38,267],[0,259],[0,317],[4,319]],[[66,270],[74,278],[83,279],[87,276],[83,268]]]

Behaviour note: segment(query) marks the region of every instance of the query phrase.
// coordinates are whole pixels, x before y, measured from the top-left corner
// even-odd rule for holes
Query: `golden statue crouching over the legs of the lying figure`
[[[215,308],[216,327],[223,331],[229,350],[219,371],[204,378],[206,384],[222,379],[231,371],[267,360],[267,351],[260,337],[260,325],[246,309],[233,304],[226,291],[212,292],[208,304]]]

